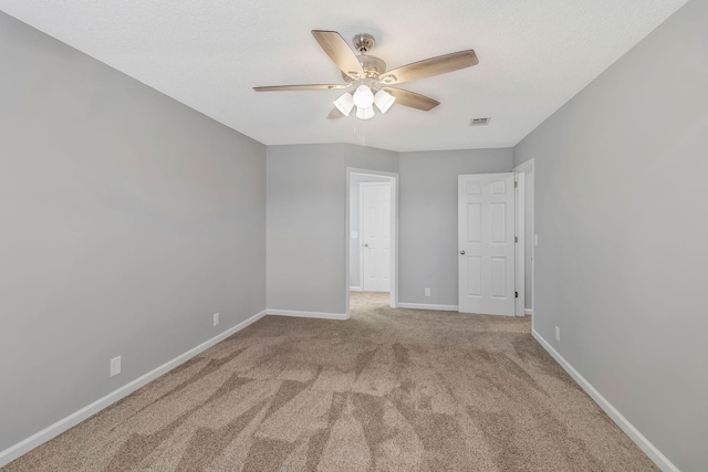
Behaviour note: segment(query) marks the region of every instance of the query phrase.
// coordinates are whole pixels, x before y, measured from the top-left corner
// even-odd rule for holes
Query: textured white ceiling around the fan
[[[267,145],[513,146],[686,0],[0,0],[0,10]],[[340,83],[310,30],[374,34],[394,69],[475,49],[479,65],[402,85],[441,102],[327,120]],[[489,125],[469,127],[473,117]]]

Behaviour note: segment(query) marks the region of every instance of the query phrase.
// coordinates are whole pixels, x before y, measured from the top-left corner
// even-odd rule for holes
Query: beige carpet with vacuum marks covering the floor
[[[658,470],[530,324],[367,293],[268,316],[7,470]]]

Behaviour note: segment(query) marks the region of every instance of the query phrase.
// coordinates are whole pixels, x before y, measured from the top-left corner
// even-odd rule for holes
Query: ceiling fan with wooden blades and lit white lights
[[[334,101],[334,108],[327,116],[330,119],[348,116],[355,107],[357,118],[368,119],[375,114],[374,105],[381,113],[386,113],[394,102],[428,112],[440,102],[393,85],[445,74],[479,63],[477,54],[470,49],[386,71],[384,61],[367,54],[375,44],[374,36],[371,34],[357,34],[352,40],[360,54],[355,54],[336,31],[312,30],[312,35],[340,67],[345,84],[274,85],[253,87],[253,90],[257,92],[353,90],[353,93],[345,92]]]

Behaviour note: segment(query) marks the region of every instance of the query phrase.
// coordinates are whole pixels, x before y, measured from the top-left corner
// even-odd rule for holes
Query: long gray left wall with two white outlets
[[[266,307],[266,148],[4,13],[0,64],[1,451]]]

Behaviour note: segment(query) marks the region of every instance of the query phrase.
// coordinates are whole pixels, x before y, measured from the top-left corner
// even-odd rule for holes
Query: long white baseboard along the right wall
[[[649,440],[646,439],[644,434],[642,434],[639,430],[637,430],[634,424],[632,424],[610,401],[607,401],[607,399],[603,397],[602,394],[598,392],[595,387],[593,387],[592,384],[587,381],[587,379],[585,379],[585,377],[583,377],[577,370],[575,370],[575,368],[571,366],[569,361],[565,360],[563,356],[561,356],[559,352],[555,350],[553,346],[551,346],[549,342],[543,338],[543,336],[541,336],[535,329],[532,331],[532,335],[541,344],[541,346],[543,346],[543,348],[548,350],[551,356],[553,356],[553,358],[561,365],[561,367],[563,367],[563,369],[565,369],[565,371],[570,374],[573,379],[575,379],[575,381],[583,388],[583,390],[585,390],[585,392],[590,395],[593,400],[595,400],[595,403],[597,403],[600,408],[602,408],[605,413],[607,413],[607,416],[620,427],[620,429],[622,429],[625,434],[627,434],[629,439],[634,441],[634,443],[637,444],[637,447],[642,451],[644,451],[644,453],[648,455],[648,458],[652,459],[652,461],[654,461],[654,463],[659,469],[665,472],[680,472],[678,468],[674,465],[671,461],[669,461],[668,458],[662,453],[662,451],[659,451],[654,444],[652,444]]]

